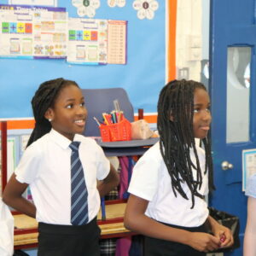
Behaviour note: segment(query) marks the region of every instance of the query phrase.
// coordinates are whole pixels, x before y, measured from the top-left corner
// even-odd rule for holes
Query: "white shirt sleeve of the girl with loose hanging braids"
[[[133,168],[128,192],[147,201],[152,201],[159,184],[160,166],[153,156],[148,155],[137,161]]]

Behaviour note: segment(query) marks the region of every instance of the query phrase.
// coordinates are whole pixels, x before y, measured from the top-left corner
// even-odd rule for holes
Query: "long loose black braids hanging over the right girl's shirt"
[[[203,195],[198,193],[198,189],[201,188],[202,175],[193,131],[194,92],[197,88],[207,90],[203,84],[193,80],[173,80],[160,91],[157,106],[160,153],[172,180],[172,190],[175,196],[179,193],[184,199],[189,200],[182,188],[182,183],[186,183],[192,195],[191,208],[195,206],[195,196],[203,198]],[[209,133],[202,139],[202,143],[206,151],[204,173],[208,172],[209,189],[212,191],[215,188]],[[190,148],[193,148],[195,153],[195,164],[190,159]],[[195,178],[193,169],[196,170]]]

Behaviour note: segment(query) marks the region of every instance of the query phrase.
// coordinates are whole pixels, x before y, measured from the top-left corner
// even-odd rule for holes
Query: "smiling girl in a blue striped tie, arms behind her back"
[[[95,140],[80,135],[87,118],[82,91],[74,81],[49,80],[32,109],[36,125],[3,201],[37,218],[38,256],[99,256],[100,195],[119,177]],[[33,203],[22,197],[28,185]]]

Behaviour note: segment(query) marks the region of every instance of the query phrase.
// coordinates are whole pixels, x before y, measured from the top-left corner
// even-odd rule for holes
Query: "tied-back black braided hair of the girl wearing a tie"
[[[40,84],[32,97],[32,110],[36,124],[26,147],[50,131],[51,124],[48,119],[45,119],[44,114],[48,108],[54,108],[55,99],[59,96],[61,90],[71,84],[79,87],[76,82],[66,79],[53,79]]]

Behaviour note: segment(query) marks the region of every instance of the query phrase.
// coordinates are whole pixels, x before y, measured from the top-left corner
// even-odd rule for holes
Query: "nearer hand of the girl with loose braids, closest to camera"
[[[188,245],[197,251],[209,253],[217,250],[221,242],[216,236],[202,232],[191,232]]]

